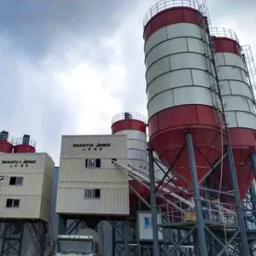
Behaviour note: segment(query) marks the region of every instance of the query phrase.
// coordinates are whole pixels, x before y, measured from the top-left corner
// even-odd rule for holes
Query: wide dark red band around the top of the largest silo
[[[191,23],[205,27],[203,17],[199,15],[196,9],[183,6],[165,9],[157,15],[154,15],[154,17],[149,20],[145,26],[143,33],[145,43],[148,38],[160,28],[177,23]]]

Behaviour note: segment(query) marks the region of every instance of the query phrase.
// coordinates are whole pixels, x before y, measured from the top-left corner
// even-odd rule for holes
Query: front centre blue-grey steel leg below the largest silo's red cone
[[[207,256],[208,255],[207,239],[206,239],[204,221],[203,221],[202,212],[201,212],[201,197],[200,197],[199,183],[197,179],[197,172],[196,172],[196,165],[195,165],[193,139],[192,139],[192,134],[190,132],[186,134],[186,142],[187,142],[188,154],[189,154],[191,181],[192,181],[193,192],[194,192],[196,226],[197,226],[200,252],[201,252],[201,256]]]

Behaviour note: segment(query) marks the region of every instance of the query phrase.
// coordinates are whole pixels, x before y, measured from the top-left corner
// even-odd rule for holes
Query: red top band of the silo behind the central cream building
[[[123,119],[113,123],[112,127],[112,134],[118,131],[125,131],[125,130],[135,130],[135,131],[142,131],[146,133],[146,125],[143,121],[139,121],[136,119]]]

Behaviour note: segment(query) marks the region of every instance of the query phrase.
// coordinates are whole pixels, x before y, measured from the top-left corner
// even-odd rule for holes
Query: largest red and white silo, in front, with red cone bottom
[[[208,45],[207,23],[198,1],[160,1],[144,19],[144,52],[149,141],[166,166],[192,131],[200,180],[220,157],[220,99]],[[189,3],[182,6],[182,3]],[[177,4],[177,6],[176,6]],[[191,180],[187,150],[173,166],[176,176]],[[190,186],[177,177],[184,187]]]

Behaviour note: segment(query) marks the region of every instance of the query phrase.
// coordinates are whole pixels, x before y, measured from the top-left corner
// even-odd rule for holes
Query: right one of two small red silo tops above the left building
[[[23,137],[15,139],[14,153],[35,153],[37,143],[30,135],[24,134]]]

